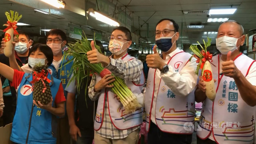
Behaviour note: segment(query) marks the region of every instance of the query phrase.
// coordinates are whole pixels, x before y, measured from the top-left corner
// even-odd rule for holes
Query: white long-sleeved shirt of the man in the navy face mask
[[[166,55],[166,59],[164,62],[170,60],[170,58],[178,52],[182,52],[178,47],[176,50]],[[178,57],[175,57],[176,59]],[[172,66],[169,65],[169,71],[165,74],[161,74],[159,69],[156,69],[156,78],[155,78],[155,91],[154,91],[154,99],[151,111],[151,121],[156,124],[155,119],[155,108],[156,108],[156,96],[158,92],[158,85],[160,83],[160,78],[164,81],[164,83],[171,89],[171,91],[175,95],[179,96],[187,96],[190,92],[192,92],[196,87],[196,59],[192,58],[190,62],[188,62],[182,70],[179,72],[174,71]]]

